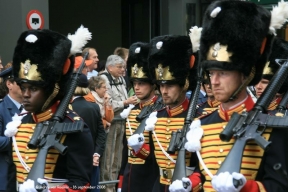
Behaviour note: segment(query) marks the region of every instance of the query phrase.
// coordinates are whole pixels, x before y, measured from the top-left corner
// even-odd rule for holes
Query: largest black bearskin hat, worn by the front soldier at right
[[[273,36],[271,13],[252,2],[229,0],[211,3],[204,15],[201,64],[204,70],[237,70],[255,85],[262,76]],[[253,78],[252,78],[253,77]]]

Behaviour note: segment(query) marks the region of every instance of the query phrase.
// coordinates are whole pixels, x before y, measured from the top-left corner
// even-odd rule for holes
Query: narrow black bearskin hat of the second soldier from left
[[[129,48],[127,73],[130,80],[141,80],[153,84],[153,78],[148,68],[149,43],[136,42]]]

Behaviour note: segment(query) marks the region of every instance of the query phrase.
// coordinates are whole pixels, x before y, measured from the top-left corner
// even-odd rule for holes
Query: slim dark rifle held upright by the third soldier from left
[[[186,175],[186,163],[185,163],[185,143],[186,143],[186,134],[190,129],[190,124],[192,122],[192,117],[194,118],[196,113],[196,106],[198,103],[198,97],[200,93],[200,88],[202,84],[202,68],[198,68],[198,80],[196,88],[193,92],[193,97],[190,99],[189,108],[187,112],[187,116],[184,120],[184,125],[181,130],[177,130],[177,132],[172,131],[171,140],[167,149],[167,152],[170,154],[174,154],[175,151],[178,151],[177,161],[175,164],[172,182],[176,180],[182,180],[183,177],[187,177]],[[189,183],[183,183],[184,188],[188,187]]]

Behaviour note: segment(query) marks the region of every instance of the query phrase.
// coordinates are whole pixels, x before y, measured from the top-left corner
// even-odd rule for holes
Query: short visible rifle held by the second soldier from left
[[[153,111],[158,111],[160,109],[162,109],[165,105],[163,104],[163,99],[162,97],[159,95],[157,100],[155,101],[155,103],[153,105],[147,105],[145,106],[141,112],[139,113],[139,115],[137,115],[136,120],[138,122],[141,122],[140,125],[137,127],[137,129],[134,131],[134,134],[140,134],[143,133],[145,130],[145,126],[146,126],[146,119],[149,118],[149,115],[153,112]]]

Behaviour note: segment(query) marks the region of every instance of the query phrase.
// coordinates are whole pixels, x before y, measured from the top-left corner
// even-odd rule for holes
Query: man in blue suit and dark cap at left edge
[[[12,76],[12,67],[0,73],[3,84],[8,93],[0,103],[0,192],[6,191],[7,170],[9,162],[9,138],[4,136],[6,124],[12,120],[15,113],[20,113],[22,93]]]

